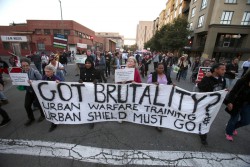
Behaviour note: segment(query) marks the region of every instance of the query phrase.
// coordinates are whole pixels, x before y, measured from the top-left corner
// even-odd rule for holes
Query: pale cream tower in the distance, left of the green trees
[[[153,36],[153,21],[139,21],[136,31],[136,45],[138,50],[144,49],[144,43]]]

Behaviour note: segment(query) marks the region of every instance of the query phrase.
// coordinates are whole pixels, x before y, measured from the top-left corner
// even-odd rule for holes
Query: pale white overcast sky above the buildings
[[[136,37],[139,21],[153,21],[167,0],[61,0],[63,20],[74,20],[95,32]],[[59,0],[0,0],[0,25],[26,20],[60,20]]]

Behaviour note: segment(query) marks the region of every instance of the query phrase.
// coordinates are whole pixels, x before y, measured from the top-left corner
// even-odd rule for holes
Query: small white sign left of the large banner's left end
[[[27,73],[9,73],[9,75],[12,80],[12,85],[30,86]]]

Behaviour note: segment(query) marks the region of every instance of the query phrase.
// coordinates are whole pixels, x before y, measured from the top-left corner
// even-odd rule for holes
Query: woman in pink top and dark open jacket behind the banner
[[[147,83],[149,84],[166,84],[170,85],[172,83],[171,79],[167,77],[164,70],[164,64],[158,63],[155,69],[155,72],[149,74]],[[156,129],[161,132],[162,129],[160,127],[156,127]]]

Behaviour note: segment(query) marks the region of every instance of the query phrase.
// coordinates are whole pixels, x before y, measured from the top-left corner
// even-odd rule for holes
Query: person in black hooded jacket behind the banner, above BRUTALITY
[[[100,72],[95,69],[94,62],[89,57],[85,60],[84,68],[80,69],[79,82],[80,83],[82,83],[82,82],[93,82],[93,83],[102,82]],[[90,123],[89,127],[91,129],[93,129],[94,123]]]

